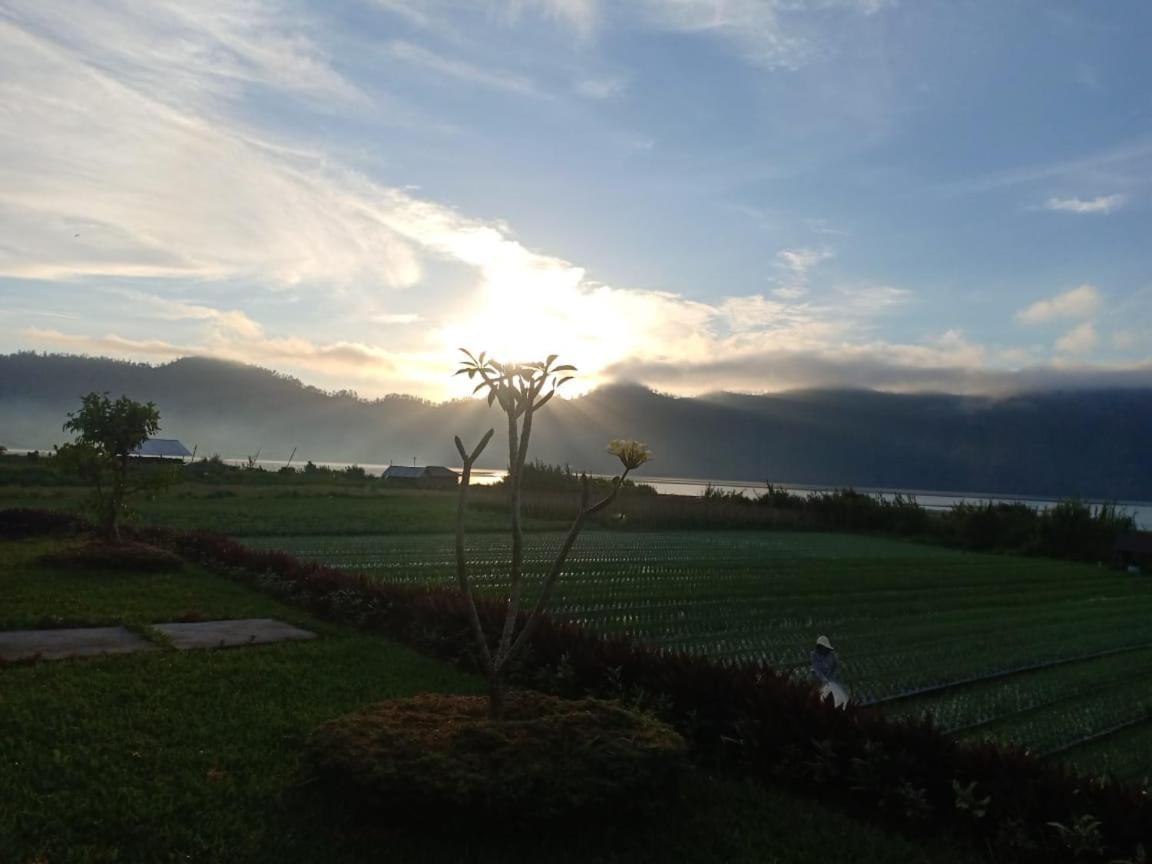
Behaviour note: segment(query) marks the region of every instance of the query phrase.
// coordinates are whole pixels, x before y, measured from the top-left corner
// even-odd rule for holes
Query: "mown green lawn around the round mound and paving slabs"
[[[0,627],[270,616],[321,638],[0,668],[0,861],[973,862],[780,790],[697,779],[630,826],[571,824],[480,840],[331,825],[297,787],[323,720],[482,682],[377,636],[310,620],[204,570],[138,576],[40,566],[48,541],[0,543]]]

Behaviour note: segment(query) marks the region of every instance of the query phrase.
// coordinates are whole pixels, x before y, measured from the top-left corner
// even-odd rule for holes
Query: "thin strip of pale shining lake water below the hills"
[[[244,464],[244,460],[225,460],[230,464]],[[262,460],[260,465],[267,469],[276,469],[283,465],[283,462],[264,461]],[[318,465],[324,465],[325,468],[347,468],[347,462],[317,462]],[[296,464],[300,468],[300,463]],[[366,473],[379,476],[388,468],[388,465],[361,465]],[[454,467],[453,470],[460,471],[460,467]],[[472,483],[477,485],[491,485],[499,483],[503,479],[507,471],[493,470],[493,469],[482,469],[477,468],[472,471]],[[704,490],[710,485],[713,488],[722,490],[725,492],[737,491],[744,492],[748,495],[759,494],[764,492],[763,483],[752,483],[749,480],[708,480],[705,478],[692,478],[692,477],[646,477],[644,475],[634,475],[632,478],[637,483],[644,483],[649,486],[655,488],[662,495],[703,495]],[[793,483],[779,483],[774,484],[776,488],[786,490],[801,495],[810,495],[817,492],[832,492],[836,488],[842,488],[840,486],[814,486],[814,485],[803,485]],[[1044,495],[1009,495],[995,492],[943,492],[939,490],[900,490],[900,488],[864,488],[858,487],[857,492],[866,492],[870,495],[878,495],[880,498],[893,498],[895,495],[912,497],[916,502],[929,510],[947,510],[954,505],[967,501],[969,503],[1025,503],[1029,507],[1034,507],[1037,509],[1044,510],[1053,505],[1055,505],[1060,499],[1047,498]],[[1092,505],[1104,505],[1104,503],[1115,503],[1124,513],[1132,514],[1136,520],[1136,524],[1144,530],[1152,530],[1152,501],[1102,501],[1089,499],[1087,503]]]

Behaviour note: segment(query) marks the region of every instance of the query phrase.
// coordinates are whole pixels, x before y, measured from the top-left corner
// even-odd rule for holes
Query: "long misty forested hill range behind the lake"
[[[66,440],[89,391],[160,407],[162,434],[202,455],[454,464],[452,435],[498,425],[472,400],[362,400],[255,366],[185,358],[159,366],[66,355],[0,356],[0,444]],[[649,442],[650,476],[1011,494],[1152,499],[1152,389],[1011,397],[806,391],[676,399],[638,386],[558,400],[532,455],[612,471],[612,438]],[[500,430],[498,429],[498,432]],[[490,447],[487,467],[500,468]]]

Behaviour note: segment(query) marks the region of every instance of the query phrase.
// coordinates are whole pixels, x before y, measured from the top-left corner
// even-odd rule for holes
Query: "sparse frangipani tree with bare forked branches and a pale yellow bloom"
[[[581,475],[579,508],[573,520],[571,528],[556,556],[548,568],[540,585],[539,593],[531,609],[521,619],[524,597],[524,531],[521,522],[521,483],[524,475],[524,463],[528,460],[528,446],[532,435],[532,420],[536,412],[546,406],[556,391],[571,380],[576,367],[567,364],[556,365],[556,355],[538,363],[499,363],[483,351],[473,356],[461,349],[467,359],[462,362],[456,374],[467,374],[470,379],[479,379],[473,393],[487,392],[488,404],[499,404],[505,412],[508,426],[508,499],[511,517],[511,560],[508,571],[508,596],[505,604],[503,624],[500,632],[490,644],[487,634],[476,609],[471,578],[468,574],[468,559],[464,551],[464,511],[468,506],[468,486],[472,465],[488,446],[494,429],[490,429],[479,444],[469,452],[457,435],[456,449],[463,460],[463,476],[460,480],[460,500],[456,509],[456,582],[468,600],[468,613],[472,636],[476,642],[484,672],[488,679],[488,717],[500,720],[503,715],[505,676],[509,662],[524,649],[537,628],[540,616],[552,599],[560,574],[563,570],[568,554],[589,517],[602,510],[615,499],[628,473],[650,458],[647,446],[638,441],[614,440],[608,452],[614,454],[624,470],[612,482],[612,487],[604,498],[594,503],[591,501],[588,475]],[[517,629],[518,624],[518,629]]]

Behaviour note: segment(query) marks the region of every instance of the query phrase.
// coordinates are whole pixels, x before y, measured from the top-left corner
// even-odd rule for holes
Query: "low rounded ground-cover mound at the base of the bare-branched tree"
[[[598,699],[507,697],[502,721],[478,696],[423,695],[325,723],[306,770],[329,796],[380,821],[619,811],[674,779],[684,740]]]

